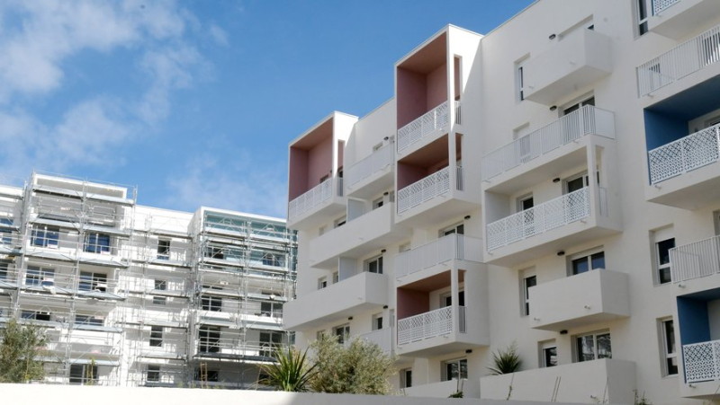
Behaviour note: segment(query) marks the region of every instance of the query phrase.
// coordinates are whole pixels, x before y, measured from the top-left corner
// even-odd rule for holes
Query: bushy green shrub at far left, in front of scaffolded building
[[[0,383],[27,383],[45,377],[42,357],[48,340],[40,327],[8,321],[0,329]]]

